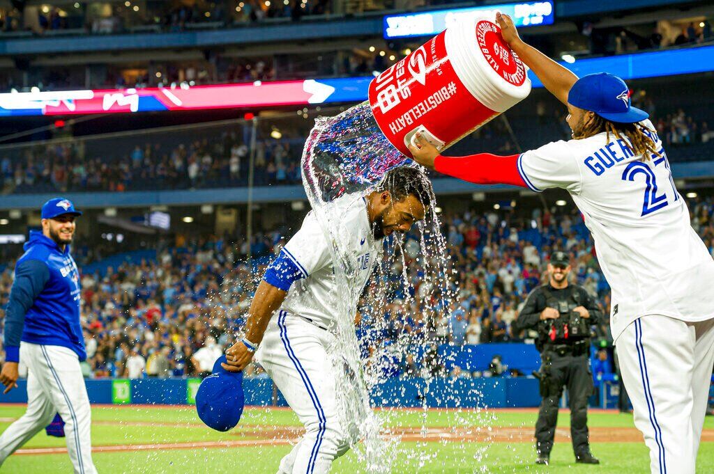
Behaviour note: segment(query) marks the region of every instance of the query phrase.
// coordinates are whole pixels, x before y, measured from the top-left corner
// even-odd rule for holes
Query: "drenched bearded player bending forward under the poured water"
[[[349,232],[343,238],[357,267],[349,279],[353,289],[366,285],[380,260],[383,237],[408,232],[422,220],[431,195],[431,182],[421,171],[395,168],[378,190],[328,204]],[[305,425],[305,435],[281,460],[278,473],[326,473],[350,446],[326,351],[336,341],[336,299],[342,297],[329,245],[316,215],[308,213],[268,268],[248,310],[245,338],[226,351],[228,364],[223,364],[228,371],[241,371],[255,354]]]

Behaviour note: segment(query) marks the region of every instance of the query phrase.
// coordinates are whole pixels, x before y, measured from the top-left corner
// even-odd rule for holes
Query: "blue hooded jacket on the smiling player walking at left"
[[[69,254],[41,232],[30,232],[15,266],[5,315],[6,360],[19,361],[20,341],[63,346],[86,359],[79,321],[79,271]]]

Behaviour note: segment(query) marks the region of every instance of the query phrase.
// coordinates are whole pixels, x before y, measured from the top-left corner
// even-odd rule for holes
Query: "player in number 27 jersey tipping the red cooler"
[[[568,107],[573,140],[507,157],[445,158],[423,138],[410,150],[418,163],[463,180],[570,192],[612,288],[610,326],[651,470],[693,474],[714,364],[714,261],[625,83],[607,73],[578,79],[524,43],[508,16],[496,21]]]

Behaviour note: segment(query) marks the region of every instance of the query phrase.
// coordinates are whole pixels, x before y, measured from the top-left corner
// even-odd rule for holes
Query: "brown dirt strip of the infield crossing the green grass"
[[[97,423],[97,422],[95,422]],[[101,423],[101,422],[99,422]],[[102,423],[104,424],[104,423]],[[144,423],[128,422],[127,425],[141,426]],[[174,426],[186,426],[188,423],[177,423]],[[193,423],[190,423],[193,426]],[[166,449],[198,449],[198,448],[248,448],[267,445],[290,445],[302,436],[303,429],[285,426],[242,426],[240,430],[231,434],[236,440],[224,441],[196,441],[185,443],[141,443],[122,445],[95,445],[95,453],[111,451],[141,451],[141,450],[166,450]],[[453,442],[453,443],[532,443],[533,428],[514,426],[480,426],[473,428],[399,428],[383,432],[388,438],[398,438],[401,441],[421,442]],[[568,428],[558,428],[555,431],[555,440],[559,443],[570,440]],[[642,443],[642,435],[635,428],[590,428],[591,443]],[[714,429],[704,430],[703,442],[714,441]],[[64,447],[56,448],[25,448],[17,450],[19,455],[64,454]]]

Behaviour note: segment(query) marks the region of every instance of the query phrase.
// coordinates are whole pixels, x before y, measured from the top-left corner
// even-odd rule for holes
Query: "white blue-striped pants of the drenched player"
[[[278,473],[327,473],[349,449],[339,422],[335,374],[325,347],[334,338],[299,316],[273,316],[256,361],[276,383],[306,433],[280,463]]]

